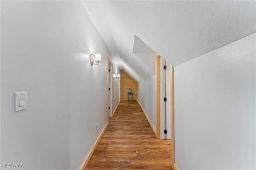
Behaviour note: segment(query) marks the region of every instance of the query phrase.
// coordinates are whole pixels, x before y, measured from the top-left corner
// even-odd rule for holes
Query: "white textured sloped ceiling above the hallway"
[[[136,81],[256,32],[255,1],[82,1],[120,69]],[[120,58],[122,56],[122,58]]]

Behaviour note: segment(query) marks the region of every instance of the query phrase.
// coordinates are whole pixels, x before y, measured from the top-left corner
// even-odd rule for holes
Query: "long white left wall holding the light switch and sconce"
[[[0,163],[81,167],[107,122],[107,55],[80,1],[1,1]],[[28,109],[14,112],[21,91]]]

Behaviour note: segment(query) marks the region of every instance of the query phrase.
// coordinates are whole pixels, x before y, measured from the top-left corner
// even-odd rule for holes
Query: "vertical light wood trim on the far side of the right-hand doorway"
[[[156,54],[156,138],[160,139],[160,58]]]

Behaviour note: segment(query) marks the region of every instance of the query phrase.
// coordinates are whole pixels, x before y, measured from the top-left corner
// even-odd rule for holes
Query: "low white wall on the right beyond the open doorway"
[[[138,82],[138,101],[156,130],[156,75]]]

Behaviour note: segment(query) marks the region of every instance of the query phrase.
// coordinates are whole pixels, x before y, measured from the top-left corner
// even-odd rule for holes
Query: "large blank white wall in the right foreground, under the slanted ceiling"
[[[180,170],[256,169],[255,36],[174,68]]]

